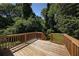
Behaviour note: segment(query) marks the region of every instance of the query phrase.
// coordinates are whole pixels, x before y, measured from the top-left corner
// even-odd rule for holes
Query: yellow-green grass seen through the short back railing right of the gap
[[[50,37],[50,40],[53,40],[56,43],[63,43],[63,35],[61,33],[53,33],[51,34],[52,37]]]

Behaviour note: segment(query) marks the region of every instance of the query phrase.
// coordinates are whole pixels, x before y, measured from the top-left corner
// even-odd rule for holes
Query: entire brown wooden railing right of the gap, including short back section
[[[71,56],[79,56],[79,40],[67,34],[51,33],[50,41],[57,44],[65,45]]]

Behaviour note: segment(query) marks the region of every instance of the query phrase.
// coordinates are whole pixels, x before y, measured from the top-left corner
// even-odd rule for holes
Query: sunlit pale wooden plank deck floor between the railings
[[[50,41],[36,40],[13,53],[15,56],[68,56],[69,52],[64,45]]]

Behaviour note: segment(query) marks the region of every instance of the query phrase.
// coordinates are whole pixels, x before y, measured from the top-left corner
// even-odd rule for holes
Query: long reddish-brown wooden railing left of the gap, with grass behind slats
[[[45,36],[42,32],[31,32],[31,33],[0,36],[0,48],[12,48],[18,44],[27,42],[28,40],[34,38],[45,39]]]

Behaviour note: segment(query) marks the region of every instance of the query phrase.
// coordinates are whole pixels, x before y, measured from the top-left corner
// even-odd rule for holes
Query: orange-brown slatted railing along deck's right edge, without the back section
[[[67,35],[64,35],[64,44],[66,45],[70,55],[79,56],[79,40]]]

